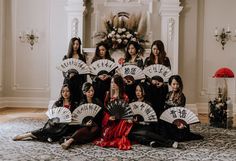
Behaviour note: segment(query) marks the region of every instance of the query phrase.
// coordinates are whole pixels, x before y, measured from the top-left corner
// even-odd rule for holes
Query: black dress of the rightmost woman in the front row
[[[167,100],[165,109],[171,108],[171,107],[184,107],[186,98],[183,93],[179,93],[178,96],[171,100],[172,91],[167,94]],[[186,127],[179,129],[175,124],[170,124],[168,122],[165,122],[163,120],[158,121],[158,129],[160,132],[160,135],[167,139],[172,139],[175,141],[190,141],[190,140],[200,140],[203,139],[203,137],[199,134],[194,134],[190,132],[190,126],[187,125]]]

